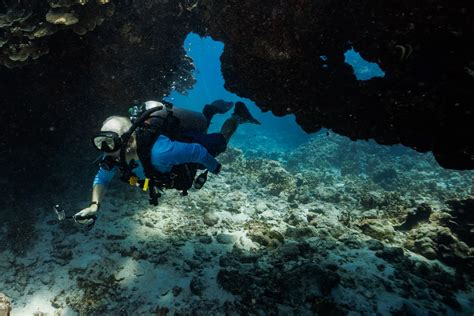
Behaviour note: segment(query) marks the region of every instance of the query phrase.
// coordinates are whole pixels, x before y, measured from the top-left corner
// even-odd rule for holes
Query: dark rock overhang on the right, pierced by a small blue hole
[[[225,44],[226,88],[262,110],[293,113],[308,132],[401,143],[446,168],[474,168],[469,1],[208,0],[197,9],[201,33]],[[357,81],[344,62],[351,47],[385,77]]]

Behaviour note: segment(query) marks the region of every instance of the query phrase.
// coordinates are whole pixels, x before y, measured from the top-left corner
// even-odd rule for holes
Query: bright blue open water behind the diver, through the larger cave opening
[[[251,100],[241,98],[224,88],[224,78],[219,60],[224,50],[224,45],[221,42],[190,33],[184,42],[184,48],[188,56],[193,59],[196,68],[194,73],[196,84],[192,90],[187,91],[186,95],[174,90],[165,97],[166,101],[199,112],[202,111],[204,104],[211,103],[216,99],[244,102],[262,125],[243,124],[239,126],[230,145],[243,150],[286,151],[310,138],[310,135],[303,132],[296,124],[294,115],[275,117],[270,112],[263,113]],[[209,132],[219,131],[222,123],[231,113],[232,111],[229,111],[224,115],[216,115]]]

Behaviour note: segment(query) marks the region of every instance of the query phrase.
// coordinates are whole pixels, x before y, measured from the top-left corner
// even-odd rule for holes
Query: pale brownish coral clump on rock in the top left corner
[[[47,39],[56,32],[84,35],[114,13],[109,1],[18,2],[5,9],[0,11],[0,65],[8,68],[47,54]]]

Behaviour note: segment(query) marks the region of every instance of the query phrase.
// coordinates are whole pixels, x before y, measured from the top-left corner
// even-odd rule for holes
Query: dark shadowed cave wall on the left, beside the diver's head
[[[8,236],[2,247],[20,252],[42,211],[54,203],[84,206],[96,170],[90,137],[107,116],[134,100],[162,97],[173,81],[179,91],[194,83],[182,47],[190,18],[178,16],[176,4],[122,2],[113,18],[85,34],[58,24],[54,33],[30,39],[48,3],[0,6],[2,57],[16,60],[0,68],[0,220]],[[37,47],[48,53],[31,57]]]

